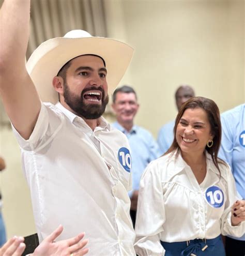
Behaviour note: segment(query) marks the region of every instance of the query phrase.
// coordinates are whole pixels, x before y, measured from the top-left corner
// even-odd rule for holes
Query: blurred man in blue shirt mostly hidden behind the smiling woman
[[[180,110],[183,103],[185,103],[191,97],[194,97],[195,93],[191,86],[189,85],[180,85],[175,92],[175,100],[178,111]],[[164,154],[167,149],[173,143],[174,140],[174,124],[175,120],[162,126],[158,133],[158,145],[161,149],[162,154]]]

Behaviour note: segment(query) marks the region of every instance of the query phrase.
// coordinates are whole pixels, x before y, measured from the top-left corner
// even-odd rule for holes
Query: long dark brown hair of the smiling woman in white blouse
[[[215,163],[215,166],[220,172],[219,165],[218,165],[218,152],[220,148],[221,143],[221,122],[220,122],[220,111],[215,103],[215,101],[211,99],[207,99],[204,97],[192,97],[189,100],[187,100],[183,105],[181,106],[179,113],[175,119],[175,126],[174,126],[174,141],[172,145],[170,146],[169,150],[164,154],[169,154],[171,152],[174,152],[177,150],[177,155],[180,152],[179,145],[176,141],[176,129],[177,125],[180,121],[180,118],[182,117],[183,113],[187,109],[195,109],[195,108],[201,108],[203,109],[208,116],[208,121],[211,127],[211,134],[213,135],[213,145],[212,147],[206,146],[207,152],[211,155],[213,162]],[[220,162],[220,161],[219,161]]]

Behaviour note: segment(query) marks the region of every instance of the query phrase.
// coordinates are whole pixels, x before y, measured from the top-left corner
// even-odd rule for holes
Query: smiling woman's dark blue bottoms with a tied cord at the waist
[[[190,256],[191,253],[198,256],[225,256],[221,235],[213,239],[207,239],[206,243],[203,239],[194,239],[190,240],[189,245],[187,245],[187,242],[166,243],[162,241],[161,244],[165,249],[165,256]],[[206,249],[202,250],[205,247]]]

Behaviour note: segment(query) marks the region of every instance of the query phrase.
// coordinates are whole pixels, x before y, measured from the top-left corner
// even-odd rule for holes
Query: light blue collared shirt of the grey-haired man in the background
[[[134,125],[130,132],[117,122],[113,123],[112,127],[123,132],[129,140],[132,158],[132,186],[133,190],[139,190],[141,174],[150,161],[161,156],[160,149],[151,133],[140,126]],[[130,198],[133,190],[129,192]]]

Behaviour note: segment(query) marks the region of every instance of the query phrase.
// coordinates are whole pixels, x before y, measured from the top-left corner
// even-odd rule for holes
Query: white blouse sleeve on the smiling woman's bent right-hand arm
[[[226,168],[226,197],[225,210],[221,217],[221,233],[222,235],[232,235],[235,237],[241,237],[245,233],[245,221],[242,221],[239,225],[233,226],[231,222],[231,207],[238,200],[235,179],[230,168]]]

